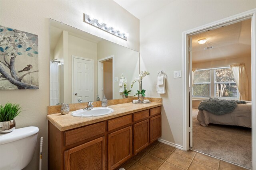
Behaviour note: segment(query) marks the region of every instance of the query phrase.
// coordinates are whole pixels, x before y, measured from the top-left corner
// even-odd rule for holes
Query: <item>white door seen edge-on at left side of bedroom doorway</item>
[[[193,147],[193,114],[192,114],[192,37],[189,38],[188,42],[188,56],[189,56],[189,146]]]

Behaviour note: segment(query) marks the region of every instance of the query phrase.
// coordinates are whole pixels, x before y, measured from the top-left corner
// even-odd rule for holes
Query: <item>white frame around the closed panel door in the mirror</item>
[[[71,55],[71,72],[72,72],[72,103],[74,103],[74,59],[81,59],[81,60],[87,60],[87,61],[92,61],[92,101],[94,101],[94,60],[93,59],[88,59],[84,57],[78,57],[75,55]],[[83,101],[84,102],[84,101]]]

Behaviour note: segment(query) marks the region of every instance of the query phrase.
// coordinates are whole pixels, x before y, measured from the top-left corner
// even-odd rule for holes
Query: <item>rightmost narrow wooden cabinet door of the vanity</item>
[[[161,137],[161,115],[150,118],[150,143]]]

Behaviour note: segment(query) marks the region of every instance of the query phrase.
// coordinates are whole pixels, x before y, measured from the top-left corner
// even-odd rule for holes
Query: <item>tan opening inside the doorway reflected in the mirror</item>
[[[113,59],[102,62],[102,96],[113,99]]]

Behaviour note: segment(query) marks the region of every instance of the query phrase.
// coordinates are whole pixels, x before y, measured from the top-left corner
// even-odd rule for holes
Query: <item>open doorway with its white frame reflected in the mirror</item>
[[[114,55],[98,60],[98,95],[112,100],[114,96]]]

